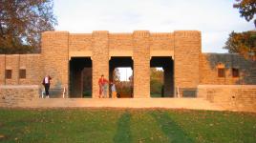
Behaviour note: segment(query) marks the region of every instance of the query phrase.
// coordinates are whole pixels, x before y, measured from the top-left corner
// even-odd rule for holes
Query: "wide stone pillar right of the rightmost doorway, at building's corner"
[[[200,31],[175,31],[175,86],[197,88],[199,85]]]

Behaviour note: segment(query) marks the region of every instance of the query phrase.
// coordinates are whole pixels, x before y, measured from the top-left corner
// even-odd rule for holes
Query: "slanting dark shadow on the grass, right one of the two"
[[[170,140],[170,142],[185,142],[193,143],[193,139],[190,138],[182,128],[172,120],[167,112],[150,112],[160,125],[162,133],[164,133]]]

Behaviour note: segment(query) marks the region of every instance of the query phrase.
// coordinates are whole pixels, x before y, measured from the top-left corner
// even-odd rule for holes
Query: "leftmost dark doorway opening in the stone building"
[[[92,97],[92,60],[90,57],[71,58],[70,97]]]

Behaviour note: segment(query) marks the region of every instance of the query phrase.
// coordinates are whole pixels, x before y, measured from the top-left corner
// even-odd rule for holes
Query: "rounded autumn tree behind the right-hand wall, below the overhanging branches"
[[[224,49],[229,52],[239,52],[245,58],[256,60],[256,31],[232,31]]]

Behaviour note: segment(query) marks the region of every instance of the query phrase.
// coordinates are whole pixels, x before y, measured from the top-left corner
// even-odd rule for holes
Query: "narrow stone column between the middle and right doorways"
[[[134,97],[150,97],[149,31],[134,31]]]

